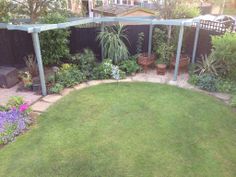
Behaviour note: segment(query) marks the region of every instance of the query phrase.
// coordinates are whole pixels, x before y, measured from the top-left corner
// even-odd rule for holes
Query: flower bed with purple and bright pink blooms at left
[[[12,97],[0,111],[0,145],[15,140],[31,124],[30,107],[21,97]]]

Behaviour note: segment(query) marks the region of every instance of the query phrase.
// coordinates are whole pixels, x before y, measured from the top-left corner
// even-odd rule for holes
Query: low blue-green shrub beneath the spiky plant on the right
[[[218,80],[215,76],[210,74],[203,74],[198,76],[197,86],[200,89],[215,92],[217,91],[217,81]]]

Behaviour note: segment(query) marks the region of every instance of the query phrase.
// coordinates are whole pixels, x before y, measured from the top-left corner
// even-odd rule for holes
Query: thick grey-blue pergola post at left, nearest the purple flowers
[[[47,95],[47,89],[46,89],[46,82],[44,77],[44,69],[43,69],[43,62],[42,62],[42,55],[40,50],[40,42],[39,42],[39,35],[38,32],[32,33],[32,39],[34,44],[34,51],[38,63],[38,69],[39,69],[39,77],[40,77],[40,83],[42,88],[42,95]]]

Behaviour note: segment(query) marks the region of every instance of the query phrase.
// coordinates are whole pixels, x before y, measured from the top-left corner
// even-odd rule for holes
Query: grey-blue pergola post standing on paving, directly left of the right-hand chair
[[[173,79],[174,81],[177,81],[179,61],[180,61],[180,55],[181,55],[181,49],[182,49],[182,43],[183,43],[183,36],[184,36],[184,22],[181,23],[181,27],[179,31],[179,41],[178,41],[178,48],[177,48],[177,54],[176,54],[176,60],[175,60],[175,72],[174,72],[174,79]]]

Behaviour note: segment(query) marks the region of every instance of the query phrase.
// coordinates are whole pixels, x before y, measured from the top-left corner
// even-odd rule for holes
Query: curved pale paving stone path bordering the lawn
[[[135,76],[129,76],[126,79],[120,80],[119,82],[152,82],[152,83],[162,83],[162,84],[168,84],[168,85],[175,85],[177,87],[190,89],[198,92],[202,92],[211,96],[214,96],[218,98],[219,100],[224,101],[225,103],[229,103],[231,96],[229,94],[224,93],[210,93],[207,91],[200,90],[192,85],[190,85],[188,82],[188,74],[183,73],[178,76],[177,81],[173,81],[173,73],[167,73],[164,76],[157,75],[155,70],[148,71],[147,73],[137,73]],[[81,90],[90,86],[95,86],[99,84],[104,83],[114,83],[117,82],[116,80],[93,80],[88,81],[85,83],[78,84],[74,86],[73,88],[65,88],[61,94],[52,94],[47,95],[45,97],[42,97],[40,100],[38,100],[36,103],[32,105],[32,110],[37,113],[41,114],[47,110],[49,106],[63,98],[63,96],[68,95],[70,92],[74,90]]]

